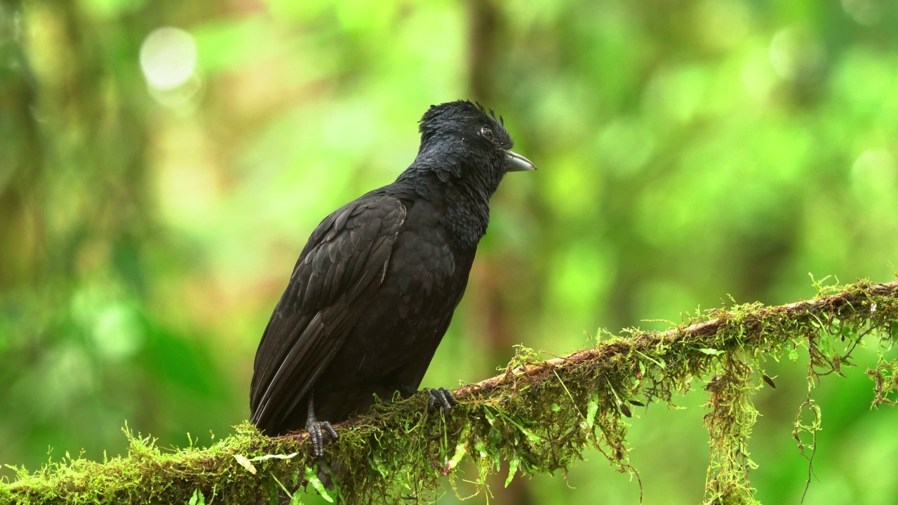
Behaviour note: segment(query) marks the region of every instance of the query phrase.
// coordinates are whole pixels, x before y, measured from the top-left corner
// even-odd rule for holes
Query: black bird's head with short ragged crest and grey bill
[[[479,180],[496,190],[507,172],[536,170],[511,150],[514,142],[502,118],[479,104],[459,100],[432,105],[421,118],[416,164],[436,169],[440,179]]]

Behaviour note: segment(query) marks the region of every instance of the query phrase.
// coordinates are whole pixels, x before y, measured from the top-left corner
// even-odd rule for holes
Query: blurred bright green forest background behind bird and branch
[[[808,272],[890,279],[896,23],[875,0],[6,0],[0,462],[119,453],[125,421],[164,446],[245,419],[305,239],[411,162],[431,103],[501,112],[540,171],[494,197],[427,385],[489,377],[517,342],[563,354],[727,295],[810,297]],[[181,31],[151,44],[163,26]],[[803,366],[770,363],[779,388],[757,398],[765,503],[804,491]],[[867,412],[850,371],[816,391],[806,500],[892,503],[898,415]],[[634,412],[646,502],[700,501],[704,401]],[[585,459],[497,480],[493,501],[638,501]]]

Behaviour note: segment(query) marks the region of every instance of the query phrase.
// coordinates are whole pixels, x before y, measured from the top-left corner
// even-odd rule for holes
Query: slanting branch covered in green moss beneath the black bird
[[[670,403],[705,377],[706,502],[753,503],[747,441],[757,411],[751,396],[771,384],[762,360],[797,359],[798,350],[809,356],[808,399],[799,413],[812,409],[814,422],[797,418],[795,435],[802,444],[803,432],[811,434],[811,443],[800,447],[813,454],[814,382],[841,375],[865,336],[877,338],[881,349],[898,340],[898,282],[817,288],[818,297],[788,306],[732,306],[666,332],[607,335],[593,349],[564,358],[544,360],[519,348],[504,373],[456,390],[459,405],[451,415],[428,412],[422,396],[375,405],[338,427],[339,440],[321,460],[310,456],[304,433],[270,439],[247,424],[212,447],[174,451],[127,430],[128,456],[102,463],[66,458],[34,474],[17,468],[13,482],[0,483],[0,502],[245,504],[292,493],[298,503],[304,485],[348,503],[428,501],[445,476],[454,483],[466,457],[481,484],[507,461],[510,482],[518,473],[567,468],[587,447],[634,472],[625,439],[631,407]],[[896,401],[896,370],[898,361],[885,352],[868,364],[876,405]]]

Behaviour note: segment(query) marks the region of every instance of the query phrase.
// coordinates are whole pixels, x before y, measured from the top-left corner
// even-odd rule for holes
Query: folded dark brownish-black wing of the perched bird
[[[315,229],[256,353],[250,392],[256,426],[285,429],[383,282],[405,216],[398,199],[360,199]]]

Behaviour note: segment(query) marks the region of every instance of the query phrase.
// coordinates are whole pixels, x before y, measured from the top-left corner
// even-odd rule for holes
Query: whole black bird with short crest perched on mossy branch
[[[418,129],[418,156],[395,182],[315,228],[256,352],[252,423],[270,436],[305,425],[315,456],[325,433],[337,437],[329,421],[417,390],[468,284],[489,197],[506,172],[536,169],[480,105],[431,106]]]

